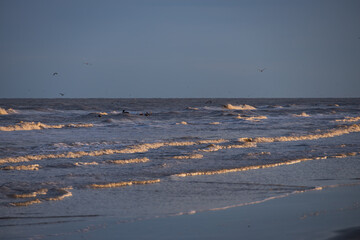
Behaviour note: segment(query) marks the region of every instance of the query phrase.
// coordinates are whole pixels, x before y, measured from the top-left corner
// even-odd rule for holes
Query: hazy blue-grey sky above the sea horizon
[[[359,13],[358,0],[1,0],[0,98],[360,97]]]

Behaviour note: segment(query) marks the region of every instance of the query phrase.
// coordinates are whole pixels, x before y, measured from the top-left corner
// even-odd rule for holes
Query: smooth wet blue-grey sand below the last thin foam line
[[[89,226],[88,231],[66,235],[66,239],[360,239],[360,186],[330,187],[226,210],[105,225],[98,228],[94,222],[95,230]]]

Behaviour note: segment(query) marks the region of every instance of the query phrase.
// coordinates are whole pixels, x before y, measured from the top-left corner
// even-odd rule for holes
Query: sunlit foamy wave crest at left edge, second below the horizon
[[[19,122],[15,125],[6,127],[0,127],[0,131],[30,131],[30,130],[41,130],[48,128],[79,128],[79,127],[93,127],[93,124],[59,124],[59,125],[47,125],[41,122]]]

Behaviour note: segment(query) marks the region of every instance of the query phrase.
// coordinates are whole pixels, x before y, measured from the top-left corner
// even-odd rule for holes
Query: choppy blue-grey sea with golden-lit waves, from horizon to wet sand
[[[356,98],[0,99],[0,238],[359,184],[359,156]]]

